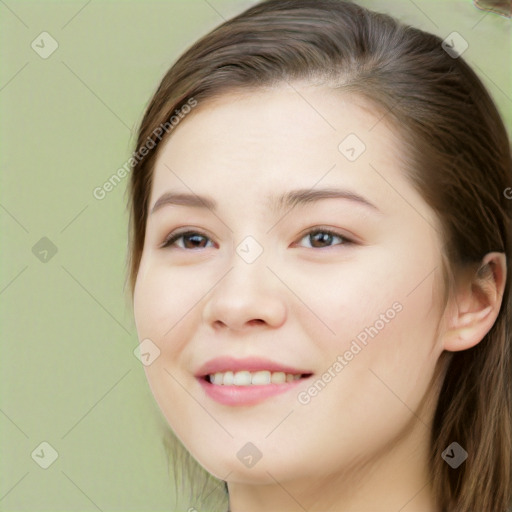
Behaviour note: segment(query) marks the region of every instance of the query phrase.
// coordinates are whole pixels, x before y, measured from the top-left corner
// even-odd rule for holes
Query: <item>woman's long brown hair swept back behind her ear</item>
[[[129,279],[144,246],[156,128],[193,98],[293,80],[369,100],[406,144],[409,178],[442,225],[445,292],[457,269],[511,251],[512,160],[506,129],[485,87],[442,40],[342,0],[268,0],[196,42],[162,79],[143,117],[130,184]],[[508,258],[507,258],[508,261]],[[431,475],[446,512],[506,512],[512,496],[511,273],[499,316],[474,348],[450,354],[431,437]],[[446,297],[446,295],[445,295]],[[446,355],[446,353],[444,354]],[[453,442],[468,459],[452,469]]]

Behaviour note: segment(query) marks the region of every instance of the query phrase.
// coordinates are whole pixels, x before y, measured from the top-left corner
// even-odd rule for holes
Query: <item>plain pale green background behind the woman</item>
[[[93,190],[129,158],[170,64],[254,3],[0,1],[0,510],[174,510],[123,289],[128,178]],[[459,32],[510,130],[510,20],[470,0],[359,3]],[[58,43],[46,59],[31,47],[44,31]],[[31,457],[43,441],[48,469]]]

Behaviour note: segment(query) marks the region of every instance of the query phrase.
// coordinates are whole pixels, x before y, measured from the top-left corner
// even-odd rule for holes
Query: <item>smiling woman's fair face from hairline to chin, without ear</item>
[[[332,475],[428,433],[441,243],[402,151],[370,104],[305,85],[199,105],[161,148],[136,326],[218,478]]]

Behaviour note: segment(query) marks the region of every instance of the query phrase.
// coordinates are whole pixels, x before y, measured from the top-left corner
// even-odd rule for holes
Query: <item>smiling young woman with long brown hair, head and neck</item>
[[[507,510],[511,152],[453,45],[262,2],[167,72],[131,163],[145,371],[232,512]]]

